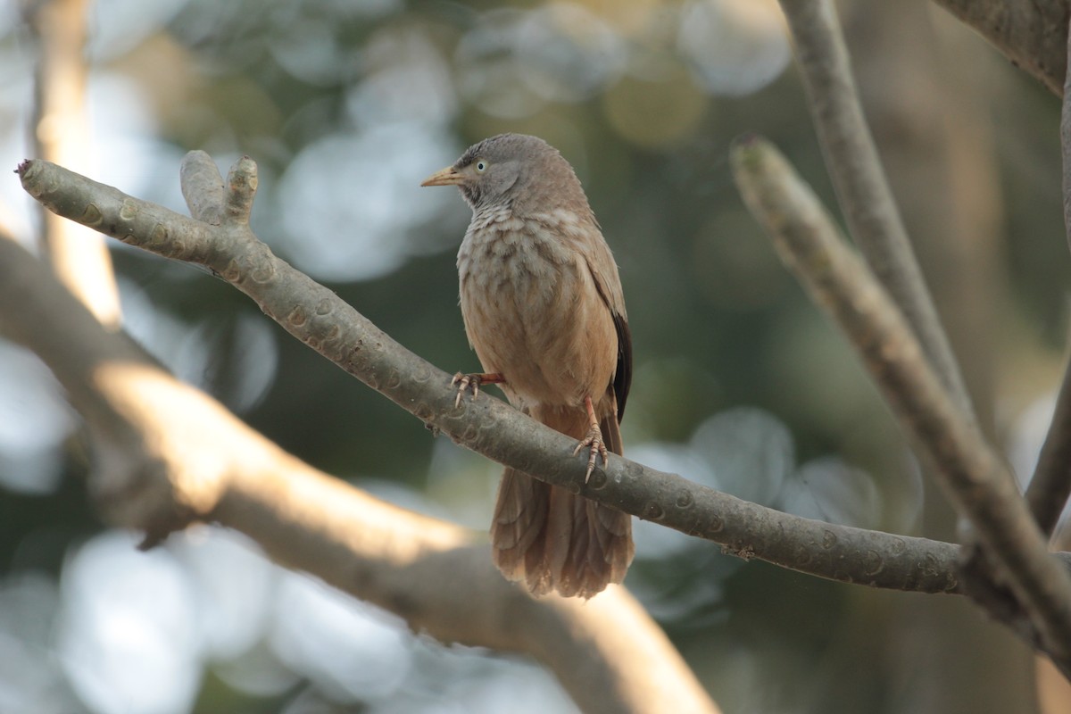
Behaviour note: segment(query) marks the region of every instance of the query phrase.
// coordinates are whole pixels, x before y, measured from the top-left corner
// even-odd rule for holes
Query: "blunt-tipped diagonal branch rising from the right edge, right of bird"
[[[1046,552],[1002,460],[956,409],[900,310],[776,149],[744,139],[733,149],[733,167],[748,207],[862,358],[957,511],[977,529],[998,574],[1007,576],[1001,580],[1045,651],[1071,669],[1071,576]]]

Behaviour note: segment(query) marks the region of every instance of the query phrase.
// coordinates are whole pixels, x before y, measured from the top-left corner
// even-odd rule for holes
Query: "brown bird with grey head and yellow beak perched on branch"
[[[472,219],[457,252],[462,317],[482,373],[510,404],[599,457],[621,454],[632,337],[617,263],[568,161],[543,139],[500,134],[421,185],[457,186]],[[507,468],[491,526],[495,565],[533,595],[590,598],[632,562],[627,513]]]

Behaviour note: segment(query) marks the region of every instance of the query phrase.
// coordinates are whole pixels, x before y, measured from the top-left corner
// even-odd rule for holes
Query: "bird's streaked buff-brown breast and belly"
[[[522,406],[577,405],[613,379],[617,333],[575,247],[579,225],[560,212],[477,214],[457,254],[469,341]]]

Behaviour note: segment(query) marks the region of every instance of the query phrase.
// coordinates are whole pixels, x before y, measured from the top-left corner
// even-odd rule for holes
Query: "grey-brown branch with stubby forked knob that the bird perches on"
[[[211,158],[192,152],[184,177],[199,212],[220,226],[141,201],[47,162],[19,167],[22,185],[58,214],[131,245],[199,263],[248,294],[295,337],[457,443],[500,464],[625,513],[725,546],[729,552],[842,582],[929,593],[956,592],[950,544],[800,518],[741,501],[678,475],[610,455],[585,484],[573,441],[482,394],[454,407],[451,375],[412,354],[343,302],[280,260],[250,231],[242,208],[255,189],[255,164],[240,159],[221,193]],[[230,196],[230,198],[225,198]],[[245,198],[242,198],[244,196]],[[789,534],[790,537],[786,537]]]

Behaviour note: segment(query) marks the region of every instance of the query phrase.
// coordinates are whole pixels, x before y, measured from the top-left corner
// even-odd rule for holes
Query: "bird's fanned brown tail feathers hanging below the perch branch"
[[[577,439],[588,431],[583,409],[556,409],[537,416]],[[608,410],[599,428],[606,447],[620,454],[616,408]],[[491,540],[495,565],[534,595],[557,590],[565,596],[591,597],[624,579],[635,551],[629,514],[509,468],[498,487]]]

